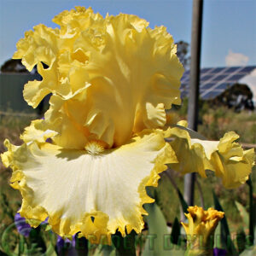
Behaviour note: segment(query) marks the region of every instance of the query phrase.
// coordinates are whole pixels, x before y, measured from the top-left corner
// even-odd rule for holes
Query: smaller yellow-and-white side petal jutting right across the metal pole
[[[180,128],[172,128],[170,137],[178,160],[170,166],[177,172],[199,172],[206,177],[205,170],[212,170],[228,189],[245,183],[252,172],[254,150],[243,150],[235,143],[239,136],[234,131],[227,132],[219,142],[191,139],[189,132]]]

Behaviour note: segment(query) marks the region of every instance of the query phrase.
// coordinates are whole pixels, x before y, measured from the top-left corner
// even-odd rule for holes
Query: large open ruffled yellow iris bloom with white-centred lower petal
[[[143,229],[143,204],[154,201],[145,187],[157,186],[166,164],[183,173],[209,167],[226,177],[216,166],[242,162],[234,184],[245,182],[253,152],[233,150],[233,137],[208,153],[206,141],[191,143],[187,131],[166,128],[165,109],[180,103],[183,67],[165,27],[81,7],[53,21],[60,28],[35,26],[14,55],[29,71],[37,65],[43,78],[25,85],[26,102],[36,108],[52,94],[44,120],[21,135],[24,144],[5,142],[2,160],[14,171],[10,183],[23,197],[22,217],[34,226],[49,217],[60,236],[80,232],[99,242],[116,230],[125,236]]]

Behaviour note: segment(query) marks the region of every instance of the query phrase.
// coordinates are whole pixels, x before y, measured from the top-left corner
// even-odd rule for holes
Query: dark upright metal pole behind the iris
[[[191,64],[189,84],[189,128],[197,131],[198,98],[200,82],[201,58],[201,23],[203,0],[193,1],[192,33],[191,33]],[[189,173],[184,179],[184,199],[189,206],[194,205],[195,173]]]

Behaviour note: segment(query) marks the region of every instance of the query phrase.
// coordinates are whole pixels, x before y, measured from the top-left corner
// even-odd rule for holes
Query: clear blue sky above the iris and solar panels
[[[192,0],[0,0],[0,65],[32,26],[55,27],[51,19],[76,5],[102,15],[138,15],[151,27],[164,25],[177,42],[190,43]],[[205,0],[201,67],[256,65],[256,1]]]

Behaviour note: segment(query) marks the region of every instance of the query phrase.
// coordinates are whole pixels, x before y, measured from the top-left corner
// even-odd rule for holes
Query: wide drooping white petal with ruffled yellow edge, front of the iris
[[[123,236],[125,228],[140,232],[147,213],[143,204],[154,201],[145,186],[156,186],[165,164],[177,161],[160,131],[143,131],[99,154],[50,143],[15,147],[7,141],[5,146],[3,164],[14,169],[11,183],[23,197],[20,215],[49,217],[59,235],[80,231],[95,242],[117,229]]]

